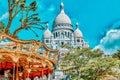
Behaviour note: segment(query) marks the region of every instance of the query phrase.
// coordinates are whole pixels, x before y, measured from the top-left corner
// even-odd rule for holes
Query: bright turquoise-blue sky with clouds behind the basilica
[[[27,0],[32,1],[32,0]],[[79,28],[84,35],[85,41],[90,43],[91,48],[101,48],[107,52],[120,49],[119,20],[120,0],[36,0],[37,12],[42,21],[49,21],[49,28],[52,29],[54,18],[60,11],[60,2],[65,5],[65,13],[71,18],[73,28],[79,23]],[[15,18],[11,32],[19,24],[17,21],[20,15]],[[7,24],[8,6],[7,0],[0,0],[0,21]],[[21,31],[18,35],[21,39],[42,38],[44,31],[36,30],[40,35],[36,38],[32,32]],[[113,33],[114,32],[114,33]],[[25,35],[26,34],[26,35]],[[29,34],[29,35],[28,35]],[[117,37],[110,37],[114,34]],[[23,36],[24,35],[24,36]],[[112,38],[112,39],[111,39]],[[109,40],[113,41],[109,41]],[[117,41],[116,41],[117,40]],[[107,42],[108,41],[108,42]],[[106,46],[108,45],[111,46]],[[115,51],[113,51],[115,52]]]

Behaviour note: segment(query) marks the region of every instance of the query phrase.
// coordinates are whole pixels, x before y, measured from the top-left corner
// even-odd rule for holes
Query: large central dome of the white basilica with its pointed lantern
[[[64,4],[63,3],[61,3],[60,9],[61,9],[60,13],[58,14],[58,16],[54,20],[54,25],[71,24],[70,18],[64,12]]]

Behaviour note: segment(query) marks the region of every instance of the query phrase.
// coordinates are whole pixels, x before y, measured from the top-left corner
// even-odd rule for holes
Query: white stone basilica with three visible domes
[[[53,22],[53,29],[47,29],[43,34],[44,43],[53,49],[60,49],[63,44],[69,44],[75,48],[89,47],[89,44],[84,41],[82,32],[76,23],[76,30],[73,30],[72,23],[68,15],[64,12],[64,4],[60,5],[60,13]]]

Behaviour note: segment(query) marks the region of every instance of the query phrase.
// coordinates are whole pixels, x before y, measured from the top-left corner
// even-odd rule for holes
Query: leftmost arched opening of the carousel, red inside
[[[4,79],[14,78],[14,62],[12,57],[9,55],[1,55],[0,77]]]

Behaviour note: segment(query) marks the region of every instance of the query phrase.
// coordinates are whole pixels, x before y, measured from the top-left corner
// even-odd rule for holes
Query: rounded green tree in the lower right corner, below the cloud
[[[103,80],[106,75],[119,77],[115,69],[119,68],[120,61],[115,58],[94,58],[84,67],[80,68],[81,78],[84,80]]]

